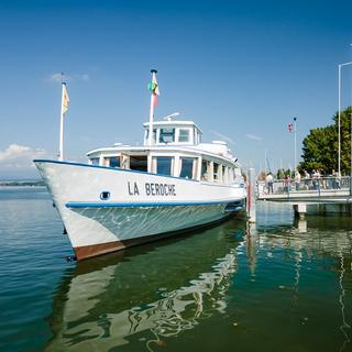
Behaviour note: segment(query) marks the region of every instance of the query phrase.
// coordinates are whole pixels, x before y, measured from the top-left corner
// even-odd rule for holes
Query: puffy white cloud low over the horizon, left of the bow
[[[10,144],[4,151],[0,151],[0,166],[4,168],[29,168],[33,167],[33,160],[46,156],[43,148]]]

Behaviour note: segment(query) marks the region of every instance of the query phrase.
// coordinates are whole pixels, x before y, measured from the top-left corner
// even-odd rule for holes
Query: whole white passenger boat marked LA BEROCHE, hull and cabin
[[[90,151],[88,163],[35,160],[77,260],[222,220],[245,208],[240,164],[194,121],[144,123],[144,144]],[[150,138],[150,131],[153,131]]]

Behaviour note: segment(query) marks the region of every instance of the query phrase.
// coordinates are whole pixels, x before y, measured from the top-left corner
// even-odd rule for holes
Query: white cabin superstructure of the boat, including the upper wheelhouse
[[[153,122],[151,145],[148,123],[144,129],[143,146],[116,143],[95,150],[87,154],[89,164],[228,185],[242,179],[227,143],[201,143],[201,131],[193,121]]]

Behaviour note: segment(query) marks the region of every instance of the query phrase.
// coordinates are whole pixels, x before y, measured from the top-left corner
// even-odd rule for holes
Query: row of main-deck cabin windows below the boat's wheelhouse
[[[177,160],[176,165],[176,160],[174,156],[153,156],[152,173],[224,184],[232,183],[237,176],[237,173],[239,173],[240,176],[240,169],[224,166],[205,158],[201,160],[199,173],[199,162],[200,158],[197,157],[180,156]],[[90,160],[90,163],[92,165],[99,165],[99,158],[94,157]],[[110,167],[121,167],[145,173],[147,172],[147,157],[145,155],[103,157],[102,164]]]

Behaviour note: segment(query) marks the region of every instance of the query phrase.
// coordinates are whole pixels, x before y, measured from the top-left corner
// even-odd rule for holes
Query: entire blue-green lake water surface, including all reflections
[[[67,263],[44,188],[0,189],[0,351],[352,351],[352,220],[257,222]]]

